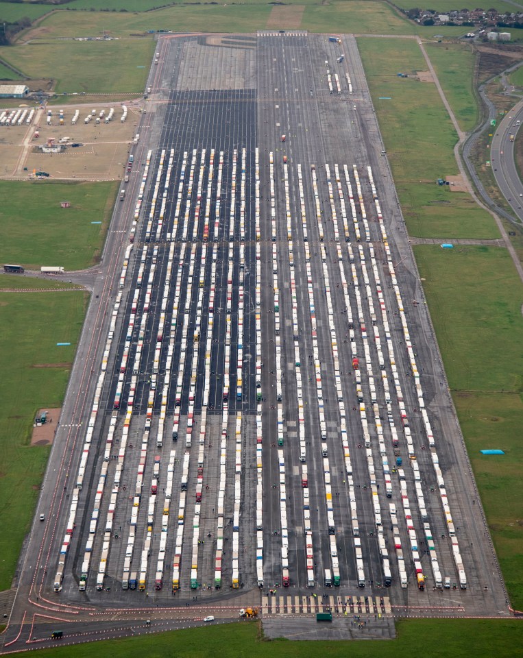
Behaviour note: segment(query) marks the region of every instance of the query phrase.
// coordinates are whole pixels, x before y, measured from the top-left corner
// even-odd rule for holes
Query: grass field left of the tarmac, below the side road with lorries
[[[0,590],[11,586],[49,456],[29,446],[33,417],[62,404],[86,300],[81,292],[0,293]]]

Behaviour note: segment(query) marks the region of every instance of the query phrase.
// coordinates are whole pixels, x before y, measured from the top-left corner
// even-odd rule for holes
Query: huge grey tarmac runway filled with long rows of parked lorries
[[[337,62],[341,53],[345,60]],[[291,614],[312,614],[325,605],[342,615],[506,614],[504,586],[387,158],[381,154],[356,41],[344,36],[338,45],[299,32],[165,36],[158,41],[157,59],[148,82],[149,111],[132,150],[130,182],[114,211],[38,503],[36,518],[45,513],[46,521],[34,522],[25,546],[3,650],[26,642],[45,646],[57,624],[80,641],[80,631],[74,630],[78,622],[82,639],[95,639],[100,637],[96,631],[108,629],[110,621],[115,635],[125,635],[134,622],[133,632],[141,632],[149,616],[180,627],[206,614],[234,618],[245,605],[262,607],[263,615],[288,613],[290,624]],[[367,167],[376,184],[382,225]],[[134,248],[119,284],[138,194],[143,201]],[[348,210],[346,229],[343,208]],[[106,343],[111,318],[114,336]],[[459,587],[456,548],[448,536],[402,319],[420,375],[421,402],[433,431],[467,589]],[[106,344],[110,350],[104,357],[95,430],[84,445]],[[123,367],[127,348],[129,360]],[[357,372],[354,353],[360,359]],[[361,377],[363,402],[357,399],[356,377]],[[119,380],[121,404],[114,409]],[[258,395],[262,400],[257,401]],[[124,428],[127,413],[130,421]],[[176,415],[179,433],[173,441]],[[363,415],[368,419],[367,447]],[[409,420],[411,450],[401,415],[403,422]],[[326,428],[323,440],[320,419]],[[401,481],[392,428],[403,460]],[[280,434],[283,445],[277,446]],[[88,455],[83,487],[74,491],[82,450]],[[419,477],[409,452],[416,457]],[[186,460],[188,482],[180,487]],[[302,486],[304,464],[307,487]],[[200,503],[195,493],[202,483]],[[257,483],[263,483],[260,498]],[[426,505],[425,527],[419,491]],[[76,497],[69,549],[60,556]],[[390,504],[396,505],[397,517],[391,516]],[[263,514],[258,531],[257,507]],[[331,508],[335,527],[329,535]],[[409,509],[406,515],[404,509]],[[358,537],[353,533],[354,510]],[[400,587],[398,544],[408,587]],[[86,554],[86,589],[79,591]],[[450,578],[450,589],[435,587],[434,560],[443,579]],[[53,583],[60,561],[64,578],[57,593]],[[416,584],[417,562],[426,576],[424,591]],[[125,564],[130,572],[143,571],[143,591],[122,589]],[[331,589],[324,575],[326,570],[336,574],[337,565],[339,586]],[[385,587],[388,565],[391,586]],[[162,583],[157,589],[159,567]],[[289,587],[282,587],[287,569]],[[175,570],[180,588],[173,592]],[[314,583],[308,587],[311,577]],[[97,589],[99,578],[103,585]]]

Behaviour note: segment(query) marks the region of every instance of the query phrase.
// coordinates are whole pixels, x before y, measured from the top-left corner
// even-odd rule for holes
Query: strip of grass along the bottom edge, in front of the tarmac
[[[315,624],[311,620],[311,624]],[[347,622],[349,623],[349,622]],[[40,650],[38,657],[71,656],[95,658],[207,658],[217,650],[223,658],[309,658],[328,655],[329,658],[419,658],[420,642],[430,658],[470,658],[474,646],[476,658],[513,658],[514,648],[522,641],[523,624],[515,620],[415,620],[400,621],[396,640],[366,642],[289,642],[275,639],[260,642],[258,624],[224,624],[204,629],[186,629],[149,637],[133,637],[112,642],[93,642],[67,646],[63,649]],[[362,631],[362,635],[365,631]]]

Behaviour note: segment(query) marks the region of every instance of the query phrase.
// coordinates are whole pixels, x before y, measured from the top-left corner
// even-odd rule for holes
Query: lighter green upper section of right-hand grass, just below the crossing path
[[[415,254],[451,389],[519,395],[523,285],[507,250],[419,245]]]

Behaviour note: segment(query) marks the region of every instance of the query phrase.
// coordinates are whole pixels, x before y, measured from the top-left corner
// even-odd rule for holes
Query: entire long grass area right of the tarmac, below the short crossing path
[[[523,285],[506,249],[414,248],[505,583],[523,607]],[[502,457],[479,450],[501,448]]]

